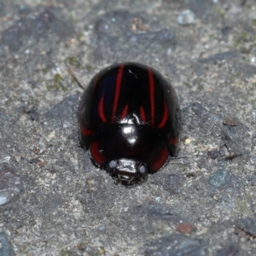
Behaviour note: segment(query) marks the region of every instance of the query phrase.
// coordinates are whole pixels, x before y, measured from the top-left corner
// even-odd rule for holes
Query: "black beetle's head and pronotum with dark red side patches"
[[[111,126],[90,142],[89,148],[96,166],[126,185],[157,172],[169,157],[158,131],[147,125]]]

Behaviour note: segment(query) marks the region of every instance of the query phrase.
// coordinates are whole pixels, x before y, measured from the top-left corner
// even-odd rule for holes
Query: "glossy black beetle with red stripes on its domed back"
[[[79,105],[79,139],[92,162],[130,185],[177,154],[180,108],[175,90],[157,70],[136,62],[102,69]]]

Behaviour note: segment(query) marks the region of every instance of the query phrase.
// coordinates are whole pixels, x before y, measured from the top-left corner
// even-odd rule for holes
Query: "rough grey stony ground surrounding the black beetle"
[[[256,255],[254,0],[0,0],[0,33],[0,255]],[[187,156],[130,188],[79,147],[70,73],[119,61],[172,81]]]

